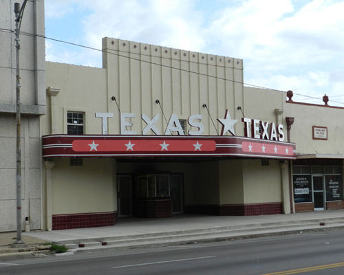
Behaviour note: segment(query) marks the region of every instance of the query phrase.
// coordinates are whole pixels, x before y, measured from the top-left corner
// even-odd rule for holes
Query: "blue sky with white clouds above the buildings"
[[[45,0],[45,35],[101,49],[109,36],[244,60],[244,84],[344,107],[344,0]],[[46,40],[46,60],[102,67]]]

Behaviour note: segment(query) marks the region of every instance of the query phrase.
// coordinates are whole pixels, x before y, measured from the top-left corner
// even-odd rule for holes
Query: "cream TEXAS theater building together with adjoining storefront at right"
[[[47,62],[42,228],[343,208],[344,109],[243,83],[241,59],[111,38],[103,68]]]

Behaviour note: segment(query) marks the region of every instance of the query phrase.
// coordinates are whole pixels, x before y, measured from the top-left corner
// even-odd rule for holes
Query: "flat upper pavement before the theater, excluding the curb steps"
[[[74,239],[93,239],[98,237],[127,236],[158,232],[197,230],[222,226],[245,226],[252,224],[286,223],[288,221],[310,221],[316,219],[344,218],[344,209],[301,212],[296,214],[272,214],[259,216],[209,216],[176,215],[165,219],[123,218],[113,226],[101,228],[80,228],[53,230],[51,232],[23,233],[25,236],[45,241],[67,241]]]

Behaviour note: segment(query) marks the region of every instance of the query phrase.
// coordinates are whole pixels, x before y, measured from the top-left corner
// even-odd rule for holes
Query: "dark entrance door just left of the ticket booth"
[[[118,217],[132,215],[132,183],[131,175],[117,176]]]

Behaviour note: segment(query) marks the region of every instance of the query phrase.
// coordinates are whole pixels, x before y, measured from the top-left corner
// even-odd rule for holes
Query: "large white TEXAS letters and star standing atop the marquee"
[[[103,135],[108,134],[107,118],[113,118],[114,113],[95,113],[96,118],[102,119],[102,129]],[[137,133],[133,130],[127,129],[133,126],[131,119],[135,118],[135,113],[120,113],[120,135],[136,135]],[[193,114],[187,119],[191,129],[187,132],[187,135],[203,135],[204,126],[202,124],[202,115]],[[161,135],[160,130],[155,126],[155,123],[160,119],[160,114],[155,114],[153,118],[149,118],[147,115],[142,113],[141,119],[147,124],[144,129],[142,129],[142,135],[149,135],[149,131],[152,131],[155,135]],[[234,125],[237,120],[230,118],[229,111],[226,110],[224,118],[217,118],[217,121],[222,124],[221,135],[226,135],[229,131],[232,135],[235,135]],[[244,133],[246,137],[254,137],[263,140],[276,140],[283,142],[283,124],[278,124],[277,126],[273,122],[264,122],[257,119],[242,118],[244,122]],[[196,128],[196,129],[195,129]],[[164,135],[172,135],[173,132],[178,133],[178,135],[185,135],[178,115],[172,113],[169,122],[167,123]]]

